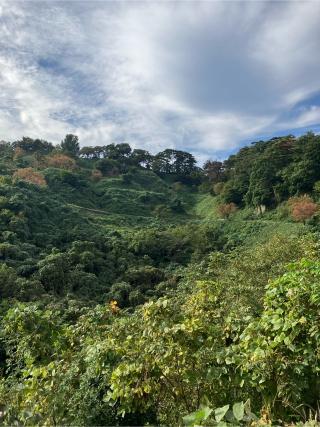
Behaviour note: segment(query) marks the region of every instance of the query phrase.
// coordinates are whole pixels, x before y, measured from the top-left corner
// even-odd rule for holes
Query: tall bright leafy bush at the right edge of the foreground
[[[319,278],[318,261],[290,265],[268,285],[261,317],[241,337],[242,369],[276,414],[319,399]]]

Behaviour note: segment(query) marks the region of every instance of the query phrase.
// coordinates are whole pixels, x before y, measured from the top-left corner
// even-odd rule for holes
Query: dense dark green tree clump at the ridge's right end
[[[258,141],[224,162],[208,161],[211,191],[225,203],[275,207],[289,197],[319,194],[320,135]]]

